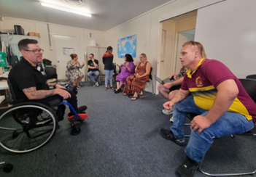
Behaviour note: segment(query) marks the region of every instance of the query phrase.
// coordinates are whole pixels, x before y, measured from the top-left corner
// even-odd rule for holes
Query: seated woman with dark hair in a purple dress
[[[117,66],[120,67],[120,65]],[[118,81],[117,89],[114,90],[116,94],[122,91],[121,86],[123,86],[123,83],[125,83],[126,78],[135,73],[135,65],[133,63],[133,57],[131,57],[131,54],[125,54],[125,63],[121,65],[121,67],[121,73],[117,75],[115,79]]]

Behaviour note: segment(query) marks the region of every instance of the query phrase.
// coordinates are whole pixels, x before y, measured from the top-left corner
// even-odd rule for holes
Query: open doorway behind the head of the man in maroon
[[[197,10],[161,22],[159,78],[164,80],[169,75],[179,73],[182,67],[179,61],[180,50],[182,44],[195,38],[196,17]]]

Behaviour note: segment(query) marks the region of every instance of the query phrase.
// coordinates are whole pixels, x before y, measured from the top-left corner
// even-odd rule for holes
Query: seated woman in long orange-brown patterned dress
[[[133,95],[131,100],[138,99],[138,94],[142,91],[147,81],[150,79],[151,64],[147,62],[146,54],[139,57],[141,62],[136,62],[135,74],[126,78],[123,95]]]

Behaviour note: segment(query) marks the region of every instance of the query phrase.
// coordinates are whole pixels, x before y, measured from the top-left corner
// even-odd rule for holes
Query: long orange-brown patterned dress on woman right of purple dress
[[[138,94],[141,93],[145,84],[147,83],[147,81],[149,81],[150,75],[146,75],[142,78],[136,78],[135,75],[144,75],[144,73],[146,73],[146,67],[147,62],[145,63],[144,66],[141,66],[141,63],[139,63],[136,73],[126,78],[125,89],[123,89],[123,93],[128,95],[133,95],[135,92],[137,92]]]

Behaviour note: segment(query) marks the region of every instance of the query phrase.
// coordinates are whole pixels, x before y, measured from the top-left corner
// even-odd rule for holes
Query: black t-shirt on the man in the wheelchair
[[[42,66],[37,65],[34,67],[23,57],[20,62],[12,67],[8,79],[12,83],[18,100],[28,100],[26,94],[22,91],[23,89],[30,87],[36,87],[36,90],[49,89]]]

